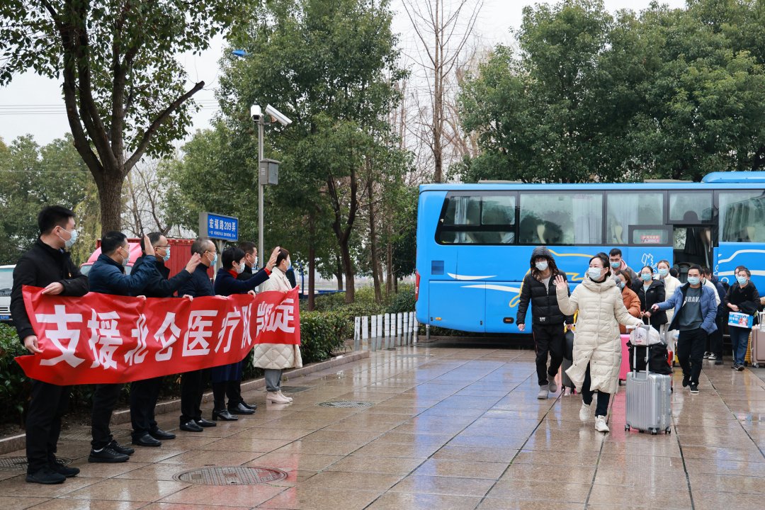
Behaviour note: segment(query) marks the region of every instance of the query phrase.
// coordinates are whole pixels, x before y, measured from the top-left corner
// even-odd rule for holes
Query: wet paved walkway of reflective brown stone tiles
[[[252,417],[179,432],[127,463],[87,463],[86,430],[70,430],[59,454],[80,476],[39,486],[0,471],[0,508],[763,508],[763,377],[708,365],[701,393],[689,395],[675,374],[671,435],[625,432],[622,391],[604,435],[578,421],[578,396],[535,398],[532,352],[399,348],[289,381],[308,387],[292,404],[246,395],[259,405]],[[373,405],[317,405],[340,400]],[[177,417],[160,425],[173,429]],[[251,486],[174,479],[204,466],[288,476]]]

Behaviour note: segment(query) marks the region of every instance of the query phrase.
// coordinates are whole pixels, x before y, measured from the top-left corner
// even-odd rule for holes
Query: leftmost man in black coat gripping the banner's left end
[[[44,287],[43,294],[84,296],[88,279],[73,264],[69,252],[77,240],[74,213],[62,206],[44,207],[37,215],[40,238],[21,255],[13,271],[11,317],[24,347],[33,355],[43,352],[24,307],[23,285]],[[80,473],[56,458],[61,417],[67,412],[70,387],[31,379],[27,410],[27,482],[62,483]]]

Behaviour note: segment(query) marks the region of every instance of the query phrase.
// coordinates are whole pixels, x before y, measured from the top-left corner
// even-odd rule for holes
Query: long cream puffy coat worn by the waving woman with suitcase
[[[556,289],[558,307],[566,315],[578,310],[574,333],[574,359],[566,370],[571,382],[581,391],[584,373],[590,365],[590,389],[614,394],[619,387],[621,343],[619,324],[639,326],[624,307],[621,292],[613,278],[597,283],[585,274],[568,297],[565,289]],[[617,323],[618,321],[618,323]]]

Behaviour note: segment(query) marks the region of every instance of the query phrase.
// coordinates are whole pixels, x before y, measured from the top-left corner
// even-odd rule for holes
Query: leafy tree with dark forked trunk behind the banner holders
[[[34,70],[62,80],[73,143],[99,192],[102,228],[120,228],[122,184],[144,156],[171,151],[190,125],[176,55],[201,51],[246,0],[6,0],[0,3],[0,85]]]

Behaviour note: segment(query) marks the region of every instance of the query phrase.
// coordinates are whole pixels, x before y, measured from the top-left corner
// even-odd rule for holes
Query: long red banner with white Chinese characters
[[[55,385],[138,381],[239,362],[256,343],[300,345],[297,288],[193,301],[41,291],[23,289],[43,352],[16,361]]]

